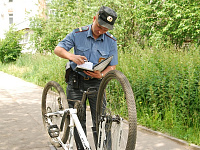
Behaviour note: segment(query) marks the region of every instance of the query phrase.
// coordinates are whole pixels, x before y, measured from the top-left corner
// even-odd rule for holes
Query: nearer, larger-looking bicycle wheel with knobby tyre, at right
[[[120,137],[120,150],[134,150],[137,135],[137,114],[132,88],[126,76],[117,70],[106,74],[102,80],[98,96],[96,110],[96,129],[99,133],[99,124],[102,116],[112,118],[118,116],[123,118],[123,128]],[[106,140],[104,149],[114,150],[116,139],[116,127],[112,122],[106,122]],[[119,131],[118,131],[119,132]],[[110,139],[109,139],[110,138]]]

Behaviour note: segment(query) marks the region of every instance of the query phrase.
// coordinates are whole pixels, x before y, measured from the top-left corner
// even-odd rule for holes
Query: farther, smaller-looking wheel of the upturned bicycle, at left
[[[63,88],[55,81],[50,81],[44,87],[42,93],[42,119],[45,129],[48,131],[50,125],[47,122],[47,113],[63,111],[68,108],[68,102]],[[60,131],[62,115],[54,115],[49,117],[53,125],[57,125],[59,129],[59,137],[63,143],[66,143],[69,135],[69,120],[65,119],[63,131]],[[59,147],[60,144],[56,138],[50,138],[51,143]]]

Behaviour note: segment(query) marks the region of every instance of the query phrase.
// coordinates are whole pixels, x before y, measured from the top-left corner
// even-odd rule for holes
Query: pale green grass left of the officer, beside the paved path
[[[0,70],[42,87],[51,80],[57,81],[65,87],[66,63],[67,60],[54,54],[23,54],[15,63],[0,64]]]

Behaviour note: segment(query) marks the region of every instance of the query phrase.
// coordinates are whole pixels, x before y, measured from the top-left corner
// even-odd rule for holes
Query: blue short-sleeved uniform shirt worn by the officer
[[[100,58],[108,58],[113,55],[110,66],[118,64],[117,42],[107,34],[102,34],[98,39],[94,39],[92,35],[92,25],[88,25],[88,30],[76,32],[73,30],[69,33],[58,46],[70,51],[74,47],[75,55],[85,56],[88,61],[96,65]],[[76,64],[70,61],[70,65],[74,70]],[[85,73],[79,72],[81,75],[88,77]]]

